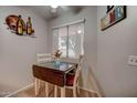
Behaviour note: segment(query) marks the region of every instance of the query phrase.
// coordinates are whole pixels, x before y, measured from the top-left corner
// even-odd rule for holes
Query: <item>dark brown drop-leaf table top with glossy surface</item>
[[[76,69],[76,63],[70,62],[45,62],[33,64],[33,75],[40,80],[46,81],[49,83],[64,86],[65,85],[65,75],[71,70]]]

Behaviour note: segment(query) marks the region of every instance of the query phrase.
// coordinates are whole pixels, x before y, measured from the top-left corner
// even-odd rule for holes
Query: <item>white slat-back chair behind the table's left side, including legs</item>
[[[44,63],[44,62],[52,61],[52,60],[53,60],[53,56],[51,53],[38,53],[36,54],[38,63]],[[35,95],[39,94],[40,83],[41,83],[41,80],[35,78],[34,79]],[[48,82],[45,82],[45,96],[49,96],[49,83]]]

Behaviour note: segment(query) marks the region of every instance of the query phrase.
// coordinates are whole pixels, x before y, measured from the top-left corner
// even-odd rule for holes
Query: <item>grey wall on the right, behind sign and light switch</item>
[[[127,18],[105,31],[99,21],[106,7],[97,8],[97,76],[106,96],[137,96],[137,66],[127,64],[137,55],[137,7],[127,7]]]

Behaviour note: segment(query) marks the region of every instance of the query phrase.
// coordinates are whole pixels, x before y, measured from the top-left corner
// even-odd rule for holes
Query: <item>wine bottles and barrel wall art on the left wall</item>
[[[22,16],[10,14],[6,18],[6,23],[8,29],[11,30],[12,33],[18,35],[31,35],[33,37],[34,29],[32,28],[31,18],[28,17],[27,23],[22,19]]]

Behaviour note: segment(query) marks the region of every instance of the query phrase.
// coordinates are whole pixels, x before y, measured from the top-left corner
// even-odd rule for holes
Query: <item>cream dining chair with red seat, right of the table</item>
[[[66,80],[65,80],[65,89],[72,89],[73,90],[73,96],[76,97],[76,90],[80,94],[80,89],[78,89],[78,80],[80,80],[80,74],[81,74],[81,70],[82,70],[82,62],[83,62],[83,55],[80,55],[78,59],[78,63],[77,63],[77,69],[74,73],[67,73],[66,74]],[[55,96],[57,95],[57,87],[59,86],[54,86],[54,94]]]

